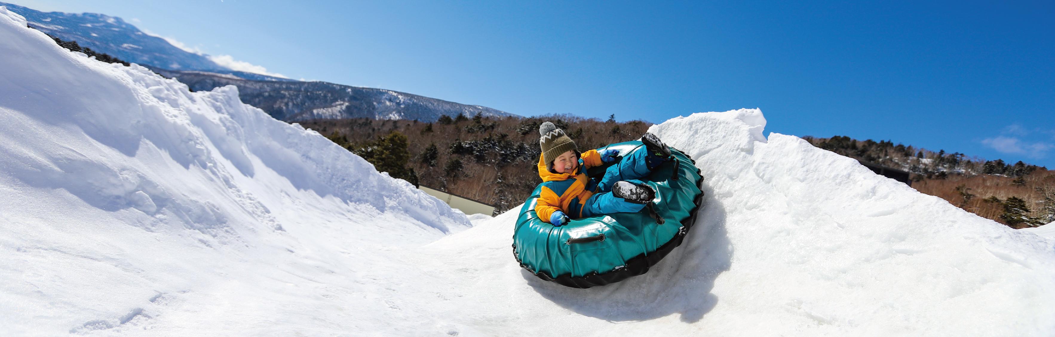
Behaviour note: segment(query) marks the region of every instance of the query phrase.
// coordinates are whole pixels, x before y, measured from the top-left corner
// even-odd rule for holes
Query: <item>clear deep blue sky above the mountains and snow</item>
[[[767,130],[1055,168],[1055,2],[8,2],[118,16],[292,78],[520,114]]]

